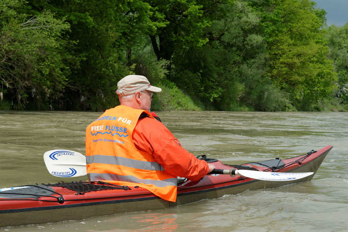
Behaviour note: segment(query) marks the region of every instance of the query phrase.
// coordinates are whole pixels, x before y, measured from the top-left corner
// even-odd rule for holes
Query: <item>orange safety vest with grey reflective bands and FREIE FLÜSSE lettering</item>
[[[153,154],[138,150],[133,143],[132,133],[143,112],[153,118],[148,111],[119,105],[106,110],[87,127],[88,178],[143,187],[160,198],[175,202],[176,176],[166,173]]]

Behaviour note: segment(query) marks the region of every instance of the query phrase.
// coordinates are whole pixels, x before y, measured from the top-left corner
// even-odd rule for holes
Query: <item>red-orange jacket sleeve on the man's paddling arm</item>
[[[207,175],[207,162],[197,159],[185,150],[163,123],[140,119],[133,130],[133,142],[137,149],[150,152],[167,173],[197,181]]]

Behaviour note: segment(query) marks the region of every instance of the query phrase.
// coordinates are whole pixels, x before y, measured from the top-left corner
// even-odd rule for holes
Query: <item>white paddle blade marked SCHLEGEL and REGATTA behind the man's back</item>
[[[51,150],[44,154],[44,161],[49,173],[59,177],[87,175],[86,157],[70,150]]]

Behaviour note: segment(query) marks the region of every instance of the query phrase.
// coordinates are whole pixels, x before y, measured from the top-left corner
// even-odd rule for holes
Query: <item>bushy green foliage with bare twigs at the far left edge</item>
[[[7,90],[3,97],[16,101],[17,109],[59,97],[70,74],[65,63],[70,44],[64,40],[69,25],[49,10],[18,13],[24,3],[4,0],[0,8],[1,92]]]

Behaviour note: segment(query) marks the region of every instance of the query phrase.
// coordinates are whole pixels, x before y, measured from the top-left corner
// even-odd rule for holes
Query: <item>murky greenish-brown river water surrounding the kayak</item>
[[[157,112],[181,145],[239,165],[333,149],[310,182],[246,191],[165,210],[0,231],[348,231],[348,113]],[[85,152],[85,129],[101,112],[0,111],[0,188],[87,180],[50,175],[42,155]],[[0,216],[1,217],[1,216]]]

